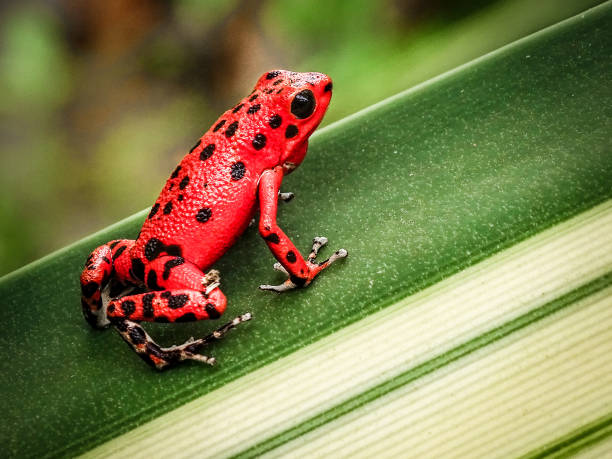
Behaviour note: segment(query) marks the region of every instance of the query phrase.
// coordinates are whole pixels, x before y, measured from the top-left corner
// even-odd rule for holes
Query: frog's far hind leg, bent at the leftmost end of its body
[[[85,262],[81,273],[81,306],[85,320],[94,328],[110,324],[106,317],[109,297],[124,293],[130,285],[121,261],[127,258],[134,242],[130,239],[108,242],[95,249]]]

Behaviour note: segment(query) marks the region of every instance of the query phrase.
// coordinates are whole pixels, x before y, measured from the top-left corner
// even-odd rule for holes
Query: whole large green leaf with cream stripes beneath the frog
[[[280,223],[349,258],[271,295],[257,285],[281,276],[247,231],[216,268],[226,316],[255,318],[207,349],[218,367],[159,374],[81,317],[85,258],[144,212],[2,278],[5,454],[376,455],[432,451],[431,432],[476,456],[605,446],[611,17],[608,3],[318,133]],[[147,330],[171,344],[215,326]]]

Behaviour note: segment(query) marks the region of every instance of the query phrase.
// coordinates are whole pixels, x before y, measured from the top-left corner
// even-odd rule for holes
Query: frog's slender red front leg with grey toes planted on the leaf
[[[313,240],[312,250],[308,259],[305,260],[299,250],[293,245],[287,235],[279,228],[276,223],[276,213],[278,208],[278,192],[283,179],[283,169],[278,166],[263,172],[259,180],[259,203],[260,219],[259,232],[268,244],[274,257],[279,261],[275,268],[285,272],[289,279],[281,285],[260,285],[262,290],[274,290],[283,292],[296,287],[305,287],[330,264],[339,258],[348,255],[347,251],[340,249],[329,259],[317,263],[316,256],[319,249],[327,243],[324,237],[317,237]]]

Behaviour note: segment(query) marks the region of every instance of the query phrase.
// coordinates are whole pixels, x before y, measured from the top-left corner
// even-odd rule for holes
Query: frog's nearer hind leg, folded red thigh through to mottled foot
[[[190,339],[177,346],[162,348],[138,322],[191,322],[218,319],[227,300],[219,288],[219,273],[204,274],[196,265],[181,257],[164,256],[145,268],[146,285],[154,290],[112,300],[107,315],[121,337],[148,364],[158,370],[184,360],[214,363],[198,350],[220,339],[238,324],[251,319],[243,314],[201,339]]]

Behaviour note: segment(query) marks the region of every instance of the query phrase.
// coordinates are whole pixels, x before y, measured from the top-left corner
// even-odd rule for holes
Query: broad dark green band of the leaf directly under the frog
[[[241,378],[265,376],[274,364],[291,363],[317,343],[340,339],[349,326],[367,324],[363,321],[385,311],[410,309],[413,303],[407,299],[417,292],[436,288],[443,279],[502,256],[547,229],[557,234],[555,228],[574,217],[581,224],[581,215],[601,210],[597,206],[605,207],[612,197],[611,6],[513,43],[315,135],[306,161],[284,184],[296,199],[282,206],[279,221],[301,250],[308,249],[313,236],[325,235],[331,249],[344,247],[349,258],[308,289],[284,295],[260,292],[260,283],[282,277],[272,270],[274,260],[256,231],[248,230],[216,268],[229,298],[226,317],[251,311],[255,318],[207,349],[218,367],[186,364],[159,374],[116,333],[92,330],[81,317],[78,276],[85,258],[110,239],[135,237],[146,212],[0,279],[0,438],[5,453],[74,455],[113,438],[115,443],[102,448],[120,451],[130,438],[121,434],[139,425],[146,431],[148,421],[165,413],[170,418],[160,419],[172,419],[172,410],[189,407],[190,401],[220,399],[219,391],[229,390],[230,383],[242,387]],[[572,304],[592,299],[605,291],[610,270],[603,263],[599,274],[578,276],[575,288],[553,289],[550,302],[596,285]],[[536,302],[533,309],[544,304]],[[445,310],[437,319],[444,323]],[[485,334],[504,323],[474,330]],[[169,345],[204,335],[216,325],[155,324],[147,330]],[[589,327],[584,330],[589,335]],[[411,333],[425,335],[418,327]],[[452,327],[448,333],[448,342],[458,339]],[[380,339],[393,336],[372,337],[373,348]],[[497,361],[492,351],[488,355]],[[385,355],[378,358],[382,362]],[[374,374],[353,395],[395,377]],[[317,391],[328,390],[325,380],[323,374]],[[274,389],[282,391],[282,384]],[[299,411],[301,405],[293,407],[298,410],[293,421],[251,438],[251,444],[233,445],[233,451],[272,451],[315,428],[329,428],[331,435],[331,421],[359,413],[361,402],[322,423],[292,429],[346,401],[340,394],[306,413]],[[606,403],[612,406],[610,399]],[[210,439],[223,426],[197,427],[198,435]],[[287,433],[292,431],[299,435]],[[133,432],[146,441],[142,430]],[[554,438],[548,440],[554,444]],[[268,446],[258,450],[257,445]],[[201,447],[206,450],[206,444]]]

